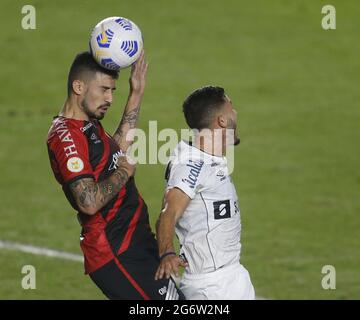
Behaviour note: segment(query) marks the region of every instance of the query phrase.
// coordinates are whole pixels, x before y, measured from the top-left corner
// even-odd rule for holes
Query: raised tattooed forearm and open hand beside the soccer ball
[[[144,51],[142,51],[139,59],[131,67],[128,100],[119,126],[113,135],[119,148],[124,152],[134,140],[136,123],[140,114],[140,104],[145,90],[147,69],[148,64],[145,61]]]

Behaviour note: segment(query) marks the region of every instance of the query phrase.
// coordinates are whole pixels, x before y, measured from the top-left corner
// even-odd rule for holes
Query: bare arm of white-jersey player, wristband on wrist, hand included
[[[164,196],[163,210],[156,223],[156,236],[159,245],[160,265],[155,274],[155,280],[171,274],[179,276],[179,266],[186,267],[183,261],[174,251],[175,225],[184,214],[189,205],[190,197],[179,188],[170,189]]]

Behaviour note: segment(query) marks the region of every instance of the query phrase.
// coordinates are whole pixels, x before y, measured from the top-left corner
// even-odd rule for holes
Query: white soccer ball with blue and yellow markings
[[[110,17],[100,21],[90,36],[90,51],[106,69],[119,70],[139,58],[143,37],[139,27],[129,19]]]

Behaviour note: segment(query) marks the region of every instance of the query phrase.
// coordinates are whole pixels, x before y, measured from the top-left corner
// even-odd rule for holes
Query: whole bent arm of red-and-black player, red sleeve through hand
[[[58,181],[65,188],[65,193],[70,193],[74,208],[84,214],[99,212],[135,172],[135,166],[127,161],[127,157],[120,156],[116,163],[112,163],[115,170],[111,175],[97,181],[86,135],[77,125],[62,117],[53,124],[47,144],[51,166]]]

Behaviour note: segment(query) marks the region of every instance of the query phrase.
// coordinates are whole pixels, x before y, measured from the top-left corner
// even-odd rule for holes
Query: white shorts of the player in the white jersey
[[[180,290],[187,300],[254,300],[255,291],[249,272],[241,264],[232,264],[214,272],[184,273]]]

